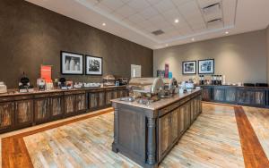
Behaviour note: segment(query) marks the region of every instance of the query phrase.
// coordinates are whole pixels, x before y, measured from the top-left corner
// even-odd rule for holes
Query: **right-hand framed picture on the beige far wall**
[[[214,59],[198,60],[199,74],[213,74],[214,73]]]

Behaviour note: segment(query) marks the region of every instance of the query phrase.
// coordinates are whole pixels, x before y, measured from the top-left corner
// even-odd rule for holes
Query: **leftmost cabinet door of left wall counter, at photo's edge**
[[[0,132],[11,130],[14,125],[14,104],[13,102],[0,103]]]

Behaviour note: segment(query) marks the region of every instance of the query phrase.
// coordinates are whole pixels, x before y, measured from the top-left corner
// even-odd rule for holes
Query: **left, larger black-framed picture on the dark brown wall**
[[[83,55],[61,51],[61,73],[63,75],[82,75]]]

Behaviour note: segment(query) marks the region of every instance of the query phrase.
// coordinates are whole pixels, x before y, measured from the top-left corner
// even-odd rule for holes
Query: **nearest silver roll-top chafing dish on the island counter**
[[[160,78],[134,78],[129,81],[128,89],[130,97],[122,99],[124,101],[137,100],[138,103],[149,105],[159,100],[159,90],[164,87]]]

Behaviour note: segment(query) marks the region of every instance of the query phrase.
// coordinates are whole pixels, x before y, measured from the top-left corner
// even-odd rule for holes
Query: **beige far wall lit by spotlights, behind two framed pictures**
[[[266,31],[259,30],[154,50],[153,74],[156,76],[156,71],[169,63],[169,71],[177,80],[188,80],[193,76],[182,75],[182,62],[213,58],[215,74],[225,75],[227,82],[266,82],[265,37]]]

